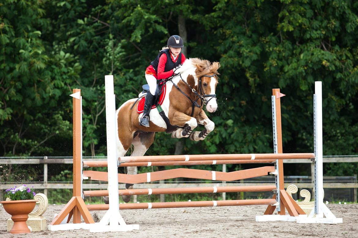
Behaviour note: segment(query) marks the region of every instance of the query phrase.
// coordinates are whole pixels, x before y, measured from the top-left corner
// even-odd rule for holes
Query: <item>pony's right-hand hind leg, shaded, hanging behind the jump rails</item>
[[[134,148],[131,156],[144,156],[149,146],[153,144],[154,136],[155,132],[138,133],[132,141],[132,145],[134,146]],[[137,167],[127,167],[127,174],[137,174]],[[125,188],[132,189],[133,184],[126,183]],[[129,202],[131,200],[131,196],[128,195],[123,195],[122,198],[124,202]]]

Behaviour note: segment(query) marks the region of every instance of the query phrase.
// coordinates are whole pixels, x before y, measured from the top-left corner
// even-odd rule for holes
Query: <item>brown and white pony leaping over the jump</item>
[[[172,81],[166,82],[166,93],[161,105],[171,125],[179,127],[171,137],[190,137],[191,140],[204,140],[214,130],[214,122],[209,120],[203,110],[206,105],[208,112],[216,111],[215,89],[218,83],[220,64],[197,58],[187,59],[183,66],[176,69],[178,74]],[[201,85],[199,85],[199,82]],[[183,93],[191,98],[191,100]],[[199,99],[198,99],[199,97]],[[197,100],[198,99],[198,100]],[[137,113],[136,105],[131,107],[137,98],[130,99],[116,111],[117,118],[117,156],[124,156],[131,145],[134,146],[131,156],[143,156],[154,141],[155,132],[165,132],[166,124],[156,108],[150,111],[149,127],[139,125],[142,113]],[[197,100],[199,107],[193,106],[192,101]],[[192,108],[193,112],[192,112]],[[190,116],[192,115],[192,116]],[[195,127],[204,125],[203,131],[193,131]],[[127,167],[128,174],[136,174],[136,167]],[[126,184],[127,189],[133,188],[133,184]],[[123,196],[125,202],[129,202],[130,196]]]

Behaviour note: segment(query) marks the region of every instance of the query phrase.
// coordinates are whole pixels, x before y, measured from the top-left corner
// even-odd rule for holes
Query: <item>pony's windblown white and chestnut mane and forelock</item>
[[[188,69],[193,69],[193,70],[199,69],[199,72],[197,73],[197,77],[202,77],[204,75],[208,75],[211,73],[219,75],[218,73],[219,67],[220,64],[218,62],[211,63],[208,60],[202,60],[199,58],[189,58],[185,60],[183,66],[180,67],[179,71],[183,72]]]

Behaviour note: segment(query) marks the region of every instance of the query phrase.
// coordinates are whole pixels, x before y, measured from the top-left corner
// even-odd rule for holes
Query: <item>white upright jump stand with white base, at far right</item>
[[[315,82],[315,94],[313,100],[314,111],[314,208],[307,218],[297,219],[297,223],[343,223],[342,218],[337,218],[323,202],[323,127],[322,127],[322,82]],[[325,216],[325,217],[324,217]]]

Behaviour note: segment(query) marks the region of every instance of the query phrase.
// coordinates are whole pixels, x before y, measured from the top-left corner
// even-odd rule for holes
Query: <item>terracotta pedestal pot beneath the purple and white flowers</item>
[[[29,218],[29,213],[35,208],[36,201],[32,199],[0,202],[14,221],[13,229],[10,231],[11,234],[31,233],[26,221]]]

